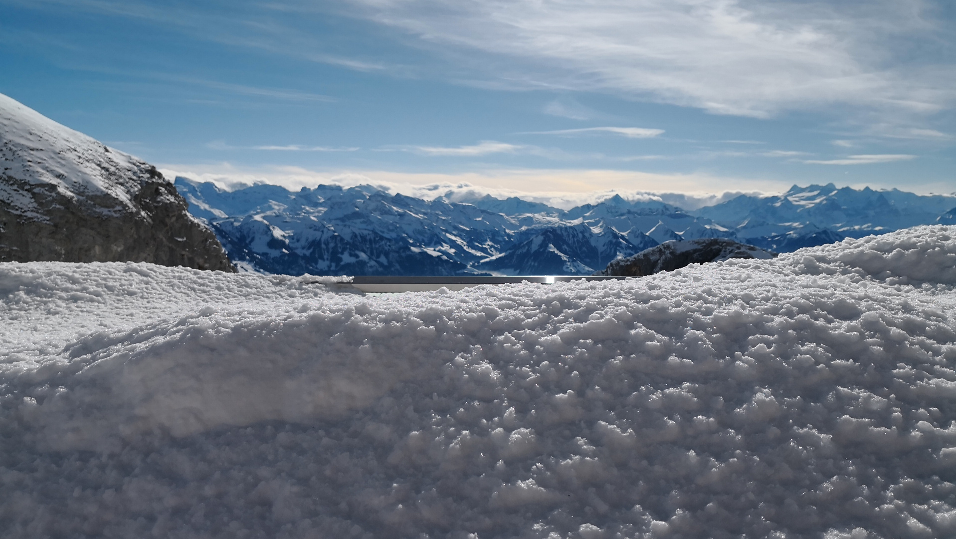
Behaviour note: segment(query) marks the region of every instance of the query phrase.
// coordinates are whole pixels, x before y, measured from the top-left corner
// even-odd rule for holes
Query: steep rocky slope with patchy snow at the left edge
[[[0,261],[235,271],[155,167],[0,95]]]

